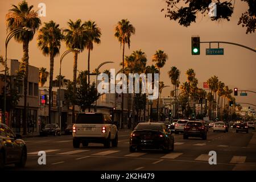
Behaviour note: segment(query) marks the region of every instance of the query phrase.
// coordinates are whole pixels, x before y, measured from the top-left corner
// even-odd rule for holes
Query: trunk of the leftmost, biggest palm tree
[[[23,135],[27,135],[27,82],[28,82],[28,41],[23,42],[23,57],[20,63],[20,71],[24,76],[24,112],[23,112]]]

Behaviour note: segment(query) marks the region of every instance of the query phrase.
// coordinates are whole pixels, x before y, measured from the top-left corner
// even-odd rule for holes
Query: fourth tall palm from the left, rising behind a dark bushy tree
[[[93,43],[100,44],[101,30],[95,22],[89,20],[84,23],[84,31],[86,34],[86,49],[88,49],[88,84],[90,84],[90,51],[93,50]],[[90,107],[89,107],[90,109]]]

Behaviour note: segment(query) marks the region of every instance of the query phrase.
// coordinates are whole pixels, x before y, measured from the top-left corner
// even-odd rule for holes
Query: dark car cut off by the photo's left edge
[[[21,138],[21,135],[15,135],[8,126],[0,123],[0,169],[6,164],[17,167],[26,165],[27,147]]]

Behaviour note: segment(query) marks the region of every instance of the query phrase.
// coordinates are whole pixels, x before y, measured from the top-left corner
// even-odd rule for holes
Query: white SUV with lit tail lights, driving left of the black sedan
[[[88,143],[103,143],[105,148],[117,147],[118,130],[110,114],[81,113],[73,125],[73,147],[88,146]]]

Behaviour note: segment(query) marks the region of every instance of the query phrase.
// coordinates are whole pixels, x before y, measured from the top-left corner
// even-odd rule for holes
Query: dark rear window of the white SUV
[[[102,114],[79,114],[76,119],[77,124],[104,124]]]

